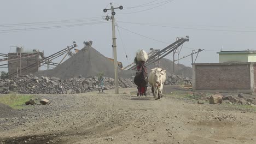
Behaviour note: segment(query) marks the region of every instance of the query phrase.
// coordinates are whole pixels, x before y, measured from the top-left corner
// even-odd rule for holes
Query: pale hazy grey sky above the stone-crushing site
[[[72,45],[74,40],[78,49],[83,48],[83,41],[92,40],[96,50],[113,57],[111,23],[102,19],[109,12],[103,13],[103,9],[110,8],[110,2],[114,7],[124,7],[115,10],[124,44],[116,29],[118,61],[123,65],[133,61],[138,49],[163,49],[176,37],[185,35],[189,35],[190,40],[184,46],[207,50],[200,53],[197,63],[218,62],[216,51],[221,47],[253,50],[256,46],[255,0],[8,0],[0,1],[0,53],[8,53],[10,46],[24,46],[26,50],[39,49],[49,56]],[[16,23],[30,24],[10,25]],[[180,56],[189,53],[191,49],[184,47]],[[172,59],[172,55],[167,58]],[[191,66],[191,57],[180,63]]]

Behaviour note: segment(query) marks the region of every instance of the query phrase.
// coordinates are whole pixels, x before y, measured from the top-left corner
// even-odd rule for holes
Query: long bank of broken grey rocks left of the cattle
[[[63,93],[84,93],[98,91],[98,77],[80,77],[71,78],[61,81]],[[23,75],[13,79],[0,79],[0,94],[9,92],[18,92],[21,94],[59,94],[62,93],[60,79],[57,77],[36,77],[34,75]],[[135,87],[132,79],[120,79],[119,87]],[[113,89],[114,79],[107,78],[104,80],[104,89]]]

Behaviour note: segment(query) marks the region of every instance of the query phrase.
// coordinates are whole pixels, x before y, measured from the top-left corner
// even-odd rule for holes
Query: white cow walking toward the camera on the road
[[[148,83],[152,86],[152,93],[155,99],[162,97],[162,87],[166,80],[165,70],[161,68],[151,69],[148,75]]]

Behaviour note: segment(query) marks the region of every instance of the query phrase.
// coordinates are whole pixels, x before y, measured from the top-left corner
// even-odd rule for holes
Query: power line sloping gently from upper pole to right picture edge
[[[153,25],[153,24],[147,24],[147,23],[125,22],[125,21],[118,21],[118,22],[131,23],[131,24],[144,25],[144,26],[167,27],[167,28],[178,28],[178,29],[192,29],[192,30],[202,30],[202,31],[251,32],[251,33],[255,33],[255,32],[256,32],[256,31],[238,31],[238,30],[224,30],[224,29],[206,29],[206,28],[173,27],[173,26],[162,26],[162,25]]]

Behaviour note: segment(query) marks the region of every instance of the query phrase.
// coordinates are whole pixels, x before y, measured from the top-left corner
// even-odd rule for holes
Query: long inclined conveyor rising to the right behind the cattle
[[[159,59],[164,58],[169,53],[176,51],[176,49],[186,41],[189,41],[189,36],[186,36],[185,38],[177,38],[177,40],[174,43],[168,45],[167,47],[165,47],[165,49],[162,49],[162,50],[150,49],[150,52],[148,53],[148,56],[149,56],[148,61],[144,65],[148,66],[149,64],[159,61]],[[123,69],[134,70],[135,68],[136,68],[136,64],[131,63]]]

